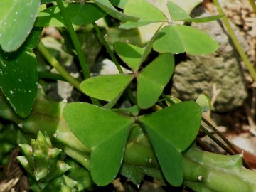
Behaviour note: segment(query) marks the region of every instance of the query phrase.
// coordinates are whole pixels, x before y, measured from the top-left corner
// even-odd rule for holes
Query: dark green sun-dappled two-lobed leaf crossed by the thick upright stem
[[[95,4],[68,4],[65,11],[70,21],[75,25],[87,25],[97,21],[99,18],[106,16]],[[64,26],[63,18],[60,14],[58,6],[51,6],[41,11],[36,19],[35,26]]]

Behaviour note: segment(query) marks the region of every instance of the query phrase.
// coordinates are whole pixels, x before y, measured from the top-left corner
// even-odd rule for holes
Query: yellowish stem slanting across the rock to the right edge
[[[213,2],[215,4],[216,8],[218,9],[219,14],[225,15],[218,0],[213,0]],[[226,16],[224,16],[222,18],[222,21],[230,35],[230,38],[232,39],[232,41],[235,45],[235,48],[238,50],[238,53],[239,53],[240,57],[242,58],[242,61],[245,63],[245,67],[247,68],[250,75],[252,76],[252,79],[254,81],[256,81],[256,70],[255,70],[255,68],[253,68],[252,63],[250,63],[249,58],[247,57],[247,55],[245,54],[245,51],[243,50],[242,46],[238,42],[238,38],[235,37],[235,33],[234,33],[233,29],[231,28],[230,23],[228,22],[228,18]]]

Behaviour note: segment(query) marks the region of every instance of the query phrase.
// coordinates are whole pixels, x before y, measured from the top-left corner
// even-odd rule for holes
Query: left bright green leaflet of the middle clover
[[[110,102],[122,95],[131,82],[132,75],[102,75],[84,80],[80,87],[86,95]]]

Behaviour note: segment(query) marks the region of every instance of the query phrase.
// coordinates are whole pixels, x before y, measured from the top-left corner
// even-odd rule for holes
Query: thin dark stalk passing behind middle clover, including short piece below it
[[[94,26],[95,31],[96,31],[98,37],[100,38],[100,41],[105,46],[105,48],[107,50],[107,53],[110,54],[110,57],[113,60],[114,65],[116,65],[118,72],[123,74],[124,71],[122,70],[121,65],[117,61],[117,58],[114,56],[114,53],[111,50],[109,44],[107,43],[107,41],[105,40],[104,36],[102,35],[102,32],[100,31],[100,28],[97,26],[97,24],[95,22],[92,23],[92,25]],[[131,90],[130,87],[127,87],[127,94],[128,94],[129,99],[131,100],[132,104],[135,105],[136,104],[136,99],[135,99],[134,95],[132,94],[132,90]]]

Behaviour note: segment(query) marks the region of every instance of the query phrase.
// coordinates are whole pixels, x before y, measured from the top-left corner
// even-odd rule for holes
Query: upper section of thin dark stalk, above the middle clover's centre
[[[100,38],[100,41],[105,46],[105,48],[107,50],[107,53],[110,54],[110,57],[113,60],[114,65],[116,65],[117,70],[119,71],[119,73],[124,73],[124,71],[121,68],[121,65],[117,61],[117,58],[114,56],[114,53],[112,52],[110,46],[108,45],[107,41],[105,40],[104,36],[102,35],[102,32],[100,31],[100,28],[97,26],[97,24],[95,22],[93,22],[92,25],[94,26],[95,31],[96,31],[97,35],[99,36],[99,38]]]

